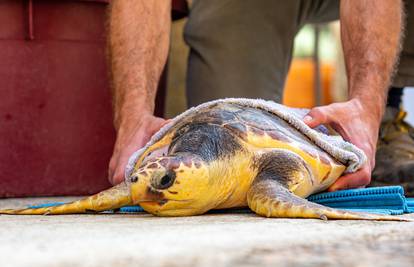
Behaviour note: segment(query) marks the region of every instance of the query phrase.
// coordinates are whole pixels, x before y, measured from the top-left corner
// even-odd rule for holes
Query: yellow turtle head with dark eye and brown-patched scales
[[[211,208],[205,161],[192,153],[151,159],[129,177],[134,204],[158,216],[189,216]]]

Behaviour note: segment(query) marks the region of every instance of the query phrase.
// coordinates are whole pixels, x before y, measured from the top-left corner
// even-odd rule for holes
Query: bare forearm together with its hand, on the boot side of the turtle
[[[369,184],[375,166],[378,129],[397,61],[401,28],[400,0],[341,0],[341,37],[349,100],[313,108],[304,118],[310,127],[331,125],[365,152],[366,164],[345,174],[329,190]]]

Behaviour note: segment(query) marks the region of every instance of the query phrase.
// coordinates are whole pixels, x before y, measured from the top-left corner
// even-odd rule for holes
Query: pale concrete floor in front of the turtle
[[[61,200],[7,199],[0,208]],[[1,267],[414,266],[413,248],[413,222],[0,216]]]

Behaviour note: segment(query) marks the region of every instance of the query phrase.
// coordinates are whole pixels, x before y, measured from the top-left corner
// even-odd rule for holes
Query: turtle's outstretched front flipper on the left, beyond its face
[[[79,214],[88,212],[100,212],[117,209],[131,204],[131,195],[128,185],[124,182],[96,195],[62,204],[54,207],[37,209],[6,209],[0,210],[0,214],[10,215],[54,215],[54,214]]]

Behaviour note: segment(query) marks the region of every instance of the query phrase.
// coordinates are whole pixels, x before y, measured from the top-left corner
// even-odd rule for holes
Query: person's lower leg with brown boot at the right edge
[[[414,86],[414,3],[405,3],[405,38],[381,123],[371,185],[401,184],[408,196],[414,196],[414,128],[404,120],[401,105],[403,88]]]

